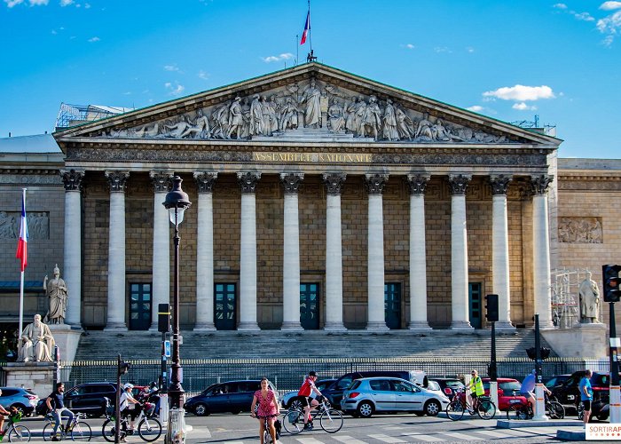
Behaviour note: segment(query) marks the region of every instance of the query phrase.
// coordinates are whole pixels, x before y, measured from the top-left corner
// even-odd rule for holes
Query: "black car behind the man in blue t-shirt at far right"
[[[562,384],[552,389],[552,394],[565,408],[576,408],[580,404],[580,379],[585,376],[585,370],[575,371]],[[591,416],[603,421],[609,416],[609,373],[593,372],[591,386],[593,387],[593,401],[591,402]]]

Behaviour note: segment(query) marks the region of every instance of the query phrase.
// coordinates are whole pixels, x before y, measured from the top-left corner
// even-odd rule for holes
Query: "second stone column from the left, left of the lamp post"
[[[127,330],[125,323],[125,185],[129,171],[106,171],[110,186],[108,229],[108,311],[106,330]]]

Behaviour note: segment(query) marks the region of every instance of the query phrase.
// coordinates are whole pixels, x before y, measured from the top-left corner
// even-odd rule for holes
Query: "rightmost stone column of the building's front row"
[[[532,267],[535,289],[535,313],[539,328],[554,329],[550,288],[550,229],[547,213],[547,186],[553,176],[531,176],[532,197]]]

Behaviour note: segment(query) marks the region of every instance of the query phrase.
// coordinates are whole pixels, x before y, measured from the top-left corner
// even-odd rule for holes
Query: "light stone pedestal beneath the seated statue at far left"
[[[54,391],[54,362],[7,362],[7,387],[24,387],[46,398]]]

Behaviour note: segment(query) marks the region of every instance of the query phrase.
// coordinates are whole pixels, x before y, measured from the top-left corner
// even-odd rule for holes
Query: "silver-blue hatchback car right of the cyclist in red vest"
[[[398,377],[356,379],[341,400],[342,410],[354,417],[403,411],[436,416],[448,404],[444,393],[428,391]]]

